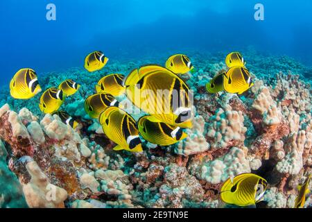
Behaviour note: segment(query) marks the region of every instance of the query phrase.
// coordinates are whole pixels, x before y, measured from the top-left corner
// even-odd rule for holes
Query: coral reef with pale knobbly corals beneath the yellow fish
[[[223,182],[248,172],[268,180],[262,207],[293,207],[297,185],[312,173],[311,70],[291,58],[244,54],[254,86],[234,95],[205,90],[226,70],[224,53],[190,53],[198,68],[182,76],[194,94],[189,137],[166,147],[144,142],[143,153],[112,151],[114,143],[87,115],[84,100],[101,76],[126,75],[148,60],[42,75],[46,88],[65,78],[82,83],[61,108],[77,119],[76,130],[42,114],[37,96],[17,101],[1,89],[0,207],[226,207]],[[135,110],[136,120],[144,115],[125,96],[117,100]],[[310,197],[305,207],[311,206]]]

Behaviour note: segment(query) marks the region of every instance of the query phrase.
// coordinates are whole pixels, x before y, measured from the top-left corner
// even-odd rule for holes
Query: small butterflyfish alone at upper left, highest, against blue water
[[[104,56],[103,52],[94,51],[85,58],[85,69],[90,72],[97,71],[103,69],[107,62],[108,58]]]

